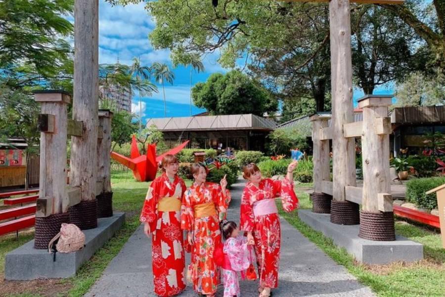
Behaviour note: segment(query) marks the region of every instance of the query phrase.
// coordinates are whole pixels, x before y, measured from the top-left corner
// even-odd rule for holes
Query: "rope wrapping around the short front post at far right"
[[[394,241],[394,213],[360,211],[360,229],[358,237],[374,241]]]

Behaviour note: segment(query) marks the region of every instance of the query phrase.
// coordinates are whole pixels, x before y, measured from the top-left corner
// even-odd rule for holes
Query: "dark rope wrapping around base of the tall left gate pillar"
[[[81,230],[97,227],[97,200],[84,200],[68,208],[70,221]]]

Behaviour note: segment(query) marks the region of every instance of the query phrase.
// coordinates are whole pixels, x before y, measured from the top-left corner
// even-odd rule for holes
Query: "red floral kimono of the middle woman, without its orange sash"
[[[197,204],[213,202],[216,215],[202,218],[194,217]],[[181,228],[193,231],[194,245],[191,247],[191,261],[197,265],[197,278],[193,280],[193,289],[201,294],[211,295],[220,284],[220,269],[213,260],[215,243],[221,242],[220,220],[225,219],[230,192],[225,197],[221,186],[205,183],[204,186],[192,185],[185,191],[181,207]]]

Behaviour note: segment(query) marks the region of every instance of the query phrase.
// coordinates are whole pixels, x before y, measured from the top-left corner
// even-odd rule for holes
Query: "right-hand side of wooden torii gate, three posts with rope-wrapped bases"
[[[359,102],[367,113],[367,120],[354,123],[353,83],[351,54],[351,9],[350,2],[374,4],[402,4],[403,0],[298,0],[304,2],[329,2],[329,31],[331,47],[331,92],[332,119],[323,115],[311,117],[314,142],[314,194],[322,198],[332,195],[330,203],[331,222],[335,224],[360,224],[360,237],[371,240],[394,240],[394,219],[389,181],[385,171],[389,171],[388,159],[384,151],[376,151],[389,146],[387,112],[391,98],[367,96]],[[363,189],[356,187],[355,141],[362,137],[366,158],[363,157]],[[333,182],[329,181],[329,143],[333,144]],[[379,160],[380,158],[380,160]],[[370,184],[372,183],[372,184]],[[361,202],[348,201],[349,195]],[[318,196],[318,197],[317,197]],[[376,197],[377,196],[377,197]],[[324,199],[330,196],[325,196]],[[363,198],[363,199],[361,199]],[[354,200],[354,199],[350,199]],[[323,202],[321,202],[323,203]],[[324,202],[326,205],[326,201]],[[380,207],[379,207],[380,206]],[[385,229],[385,236],[374,236]]]

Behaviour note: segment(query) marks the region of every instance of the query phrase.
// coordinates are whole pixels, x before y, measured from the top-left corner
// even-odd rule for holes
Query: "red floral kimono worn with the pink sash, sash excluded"
[[[256,201],[276,197],[281,197],[283,208],[287,212],[298,207],[298,198],[294,192],[293,182],[289,182],[287,179],[282,181],[262,179],[258,188],[248,182],[241,198],[240,229],[253,234],[260,285],[268,288],[278,286],[280,220],[277,213],[255,217],[253,204]]]

